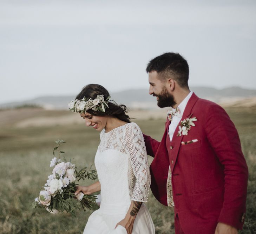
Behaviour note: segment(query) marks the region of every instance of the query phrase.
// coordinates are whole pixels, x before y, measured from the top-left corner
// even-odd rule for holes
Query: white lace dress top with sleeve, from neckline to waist
[[[107,133],[105,129],[101,131],[95,165],[102,199],[106,194],[115,196],[113,193],[117,192],[109,194],[111,186],[120,193],[127,189],[130,200],[147,201],[151,179],[149,163],[143,134],[136,123],[127,123]]]

